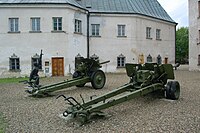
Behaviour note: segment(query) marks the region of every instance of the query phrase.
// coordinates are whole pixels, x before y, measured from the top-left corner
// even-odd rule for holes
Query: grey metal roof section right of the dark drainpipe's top
[[[175,23],[157,0],[79,0],[90,12],[130,13]]]

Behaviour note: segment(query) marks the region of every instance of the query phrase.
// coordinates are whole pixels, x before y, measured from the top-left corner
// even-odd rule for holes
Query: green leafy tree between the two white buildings
[[[188,27],[181,27],[176,31],[176,62],[188,63],[189,31]]]

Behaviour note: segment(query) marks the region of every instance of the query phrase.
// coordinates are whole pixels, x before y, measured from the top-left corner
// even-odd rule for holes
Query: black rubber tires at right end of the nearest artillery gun
[[[180,96],[180,84],[178,81],[169,81],[166,86],[166,98],[178,100]]]

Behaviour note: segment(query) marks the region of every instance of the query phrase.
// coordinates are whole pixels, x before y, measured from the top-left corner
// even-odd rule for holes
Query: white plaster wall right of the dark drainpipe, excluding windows
[[[138,63],[138,56],[142,53],[145,62],[149,54],[153,62],[159,54],[163,63],[165,57],[169,63],[175,62],[175,24],[137,15],[109,14],[91,15],[91,24],[100,24],[101,37],[90,37],[90,55],[95,53],[102,61],[111,61],[104,65],[105,71],[124,71],[117,68],[117,56],[121,53],[126,62]],[[126,25],[126,37],[117,37],[118,24]],[[146,39],[146,27],[152,28],[152,40]],[[161,41],[156,40],[156,29],[161,29]]]

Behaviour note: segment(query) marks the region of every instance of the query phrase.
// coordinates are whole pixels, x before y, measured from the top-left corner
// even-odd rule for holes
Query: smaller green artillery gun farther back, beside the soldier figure
[[[29,84],[26,92],[28,92],[32,96],[46,96],[49,95],[49,93],[51,92],[71,86],[83,87],[88,82],[91,82],[94,89],[102,89],[105,85],[106,77],[104,72],[100,70],[100,68],[102,67],[102,64],[108,62],[110,61],[99,63],[98,60],[77,57],[75,58],[75,72],[71,80],[64,80],[58,83],[44,86],[35,83],[34,80],[25,81],[25,83]]]

